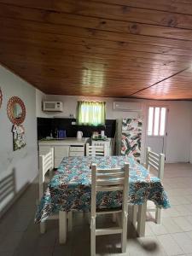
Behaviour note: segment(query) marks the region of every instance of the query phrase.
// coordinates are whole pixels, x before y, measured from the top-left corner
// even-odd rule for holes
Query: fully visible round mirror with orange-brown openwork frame
[[[10,121],[14,125],[20,125],[26,118],[26,107],[19,97],[13,96],[9,99],[7,113]]]

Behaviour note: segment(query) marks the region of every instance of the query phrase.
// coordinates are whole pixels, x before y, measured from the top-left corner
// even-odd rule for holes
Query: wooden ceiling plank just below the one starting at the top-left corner
[[[172,26],[155,26],[137,22],[108,20],[84,15],[72,15],[48,12],[46,10],[20,8],[0,3],[0,16],[19,20],[33,20],[51,24],[62,24],[67,26],[80,26],[84,28],[95,28],[101,31],[111,31],[127,34],[138,34],[155,38],[173,38],[179,40],[192,40],[192,16],[191,26],[188,29],[180,29]],[[190,22],[190,20],[188,20]]]

